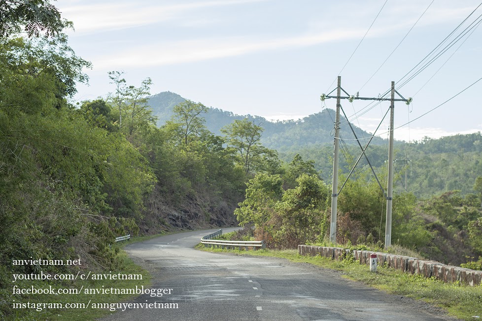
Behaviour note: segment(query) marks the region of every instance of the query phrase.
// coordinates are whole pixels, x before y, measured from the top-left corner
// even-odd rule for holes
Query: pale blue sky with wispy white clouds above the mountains
[[[333,90],[336,95],[340,75],[350,95],[383,96],[395,81],[401,96],[413,97],[410,105],[395,103],[395,139],[482,131],[482,80],[475,83],[482,77],[480,0],[54,4],[74,24],[67,32],[70,46],[93,64],[85,70],[89,86],[78,85],[74,102],[114,92],[107,72],[116,70],[136,87],[150,77],[153,95],[170,91],[239,115],[297,120],[336,108],[336,99],[323,102],[320,95]],[[425,67],[427,56],[433,61]],[[355,126],[372,133],[389,108],[388,101],[342,99],[341,104]],[[377,131],[382,138],[388,118]],[[349,139],[350,133],[343,137]]]

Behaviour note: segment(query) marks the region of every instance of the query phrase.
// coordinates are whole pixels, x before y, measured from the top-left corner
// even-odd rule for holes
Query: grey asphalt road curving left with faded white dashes
[[[310,264],[194,250],[212,231],[166,235],[126,247],[152,273],[152,289],[167,289],[162,297],[143,294],[132,302],[177,303],[178,308],[127,309],[102,320],[454,320],[424,303],[385,294]]]

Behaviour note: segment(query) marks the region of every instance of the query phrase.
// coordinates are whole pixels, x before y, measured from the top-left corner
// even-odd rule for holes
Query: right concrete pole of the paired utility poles
[[[388,186],[387,186],[387,197],[386,197],[385,249],[392,245],[394,110],[395,110],[395,82],[392,81],[391,96],[390,96],[390,140],[388,142]]]

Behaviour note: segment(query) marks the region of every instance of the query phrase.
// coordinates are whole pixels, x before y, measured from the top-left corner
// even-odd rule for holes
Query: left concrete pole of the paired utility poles
[[[342,93],[342,76],[338,76],[337,113],[335,118],[335,150],[333,153],[333,185],[331,193],[330,242],[337,242],[337,207],[338,207],[338,152],[340,145],[340,96]]]

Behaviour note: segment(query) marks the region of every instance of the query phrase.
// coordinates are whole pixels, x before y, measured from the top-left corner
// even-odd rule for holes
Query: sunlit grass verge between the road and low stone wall
[[[374,288],[391,294],[424,300],[440,307],[449,315],[462,320],[477,320],[482,318],[482,285],[476,287],[464,286],[458,283],[444,283],[435,278],[424,278],[420,275],[404,273],[392,268],[378,267],[377,273],[371,273],[367,265],[361,265],[354,260],[332,260],[326,257],[304,257],[297,250],[258,250],[238,251],[196,247],[207,252],[230,252],[237,255],[282,257],[293,262],[304,262],[323,268],[343,272],[344,278],[363,282]]]

